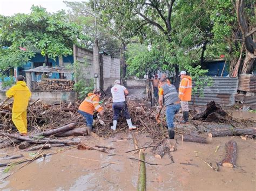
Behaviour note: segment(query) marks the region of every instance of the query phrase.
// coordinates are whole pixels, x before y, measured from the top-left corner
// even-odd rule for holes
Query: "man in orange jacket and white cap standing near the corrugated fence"
[[[183,121],[188,122],[188,101],[191,101],[192,93],[192,78],[187,75],[186,71],[181,71],[179,74],[181,81],[179,85],[179,98],[181,109],[183,111]]]

